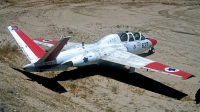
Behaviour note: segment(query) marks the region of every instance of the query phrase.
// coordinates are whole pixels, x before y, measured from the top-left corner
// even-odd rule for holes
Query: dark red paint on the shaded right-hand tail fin
[[[58,54],[60,53],[63,46],[67,43],[68,40],[69,38],[64,38],[62,42],[51,52],[51,54],[49,54],[49,56],[44,61],[47,62],[56,59],[56,57],[58,56]]]

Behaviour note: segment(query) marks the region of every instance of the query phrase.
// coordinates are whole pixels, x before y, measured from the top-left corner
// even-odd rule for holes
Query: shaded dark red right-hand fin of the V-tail
[[[51,47],[48,50],[48,52],[40,60],[38,60],[36,63],[41,63],[41,62],[47,62],[47,61],[55,60],[56,57],[58,56],[58,54],[60,53],[60,51],[62,50],[62,48],[64,47],[64,45],[69,40],[69,38],[70,37],[63,37],[63,38],[61,38],[56,43],[56,45],[54,45],[53,47]]]

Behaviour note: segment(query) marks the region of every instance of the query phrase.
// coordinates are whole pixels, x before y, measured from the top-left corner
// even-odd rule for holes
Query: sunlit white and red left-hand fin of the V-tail
[[[31,63],[35,63],[38,59],[45,55],[45,51],[41,49],[33,40],[31,40],[17,26],[8,26],[8,30],[13,35],[22,51]]]

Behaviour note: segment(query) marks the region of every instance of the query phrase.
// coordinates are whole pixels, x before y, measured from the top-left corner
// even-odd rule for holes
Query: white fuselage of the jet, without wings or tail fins
[[[23,68],[26,71],[52,71],[67,70],[70,66],[84,66],[98,64],[101,57],[112,53],[114,50],[127,51],[134,54],[141,53],[152,47],[148,39],[130,39],[133,34],[127,33],[127,39],[122,40],[118,34],[110,34],[94,44],[76,45],[75,48],[60,52],[56,60],[39,64],[28,64]],[[67,46],[66,46],[67,47]]]

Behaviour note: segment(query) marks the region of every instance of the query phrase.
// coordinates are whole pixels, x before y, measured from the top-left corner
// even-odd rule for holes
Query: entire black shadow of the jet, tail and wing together
[[[54,78],[46,78],[33,73],[22,71],[20,69],[13,69],[29,77],[31,81],[36,81],[37,83],[42,84],[42,86],[58,93],[63,93],[67,91],[57,81],[76,80],[98,74],[129,85],[137,86],[139,88],[175,98],[177,100],[180,100],[183,97],[187,96],[187,94],[183,92],[175,90],[139,73],[129,74],[128,69],[120,65],[111,66],[110,64],[103,63],[99,65],[83,66],[78,67],[75,70],[62,72]]]

